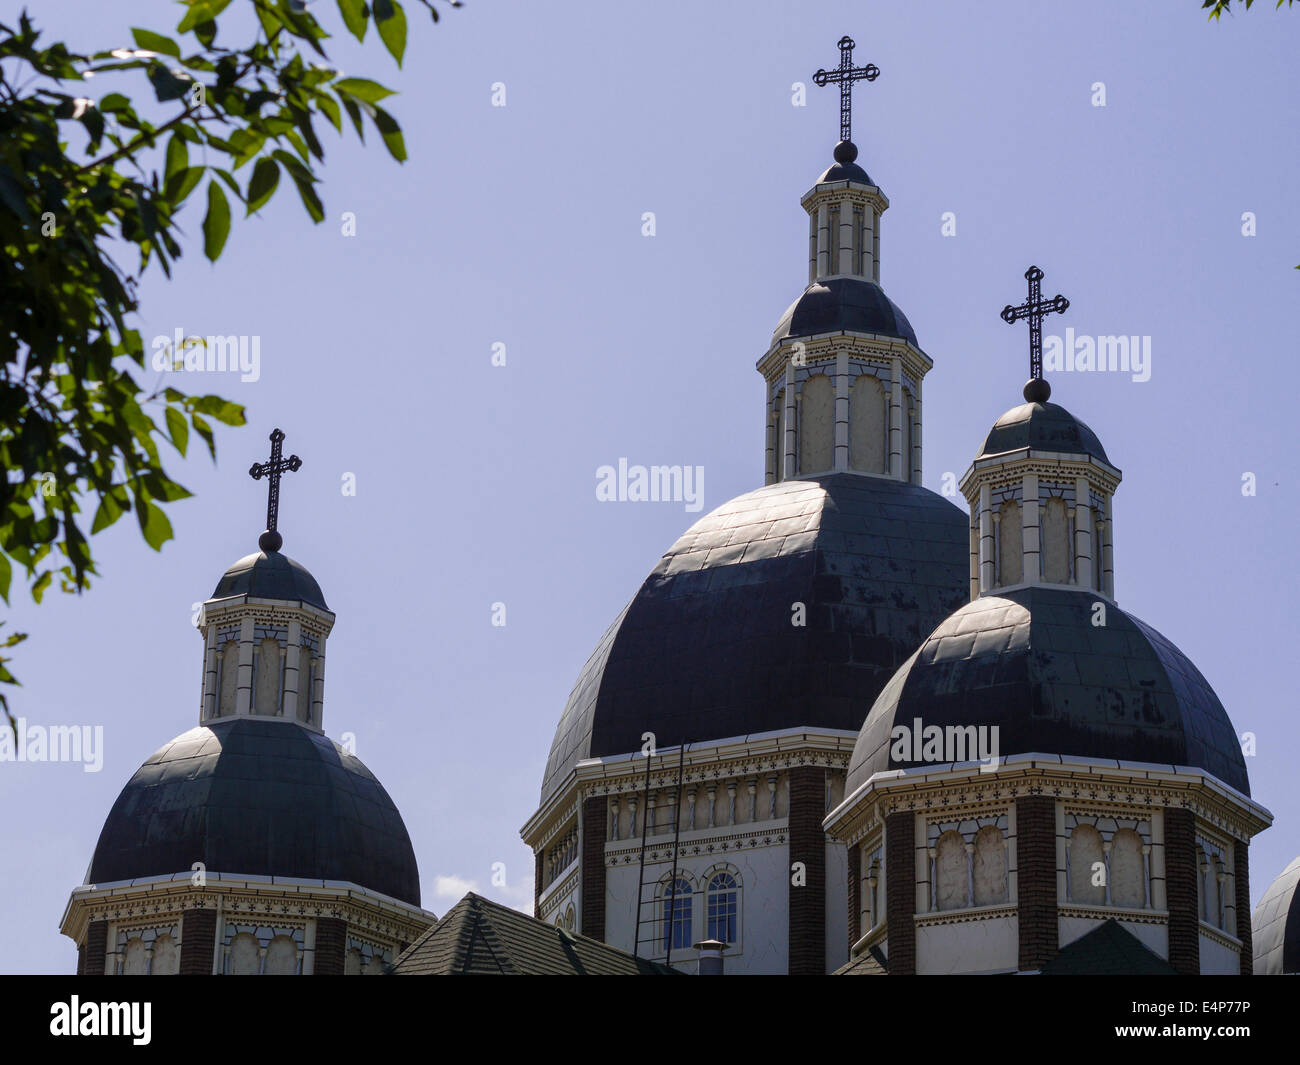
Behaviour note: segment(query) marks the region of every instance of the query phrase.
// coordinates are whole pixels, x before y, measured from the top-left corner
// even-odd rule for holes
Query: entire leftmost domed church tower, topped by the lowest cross
[[[78,971],[380,973],[433,921],[402,815],[356,754],[324,735],[316,579],[281,554],[272,433],[266,531],[199,614],[196,728],[117,796],[62,931]]]

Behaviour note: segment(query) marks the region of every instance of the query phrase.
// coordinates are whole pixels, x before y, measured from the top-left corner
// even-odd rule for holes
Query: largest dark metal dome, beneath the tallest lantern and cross
[[[560,717],[575,762],[783,728],[845,731],[968,594],[966,515],[919,485],[835,473],[724,503],[668,549]],[[803,603],[806,624],[792,624]]]

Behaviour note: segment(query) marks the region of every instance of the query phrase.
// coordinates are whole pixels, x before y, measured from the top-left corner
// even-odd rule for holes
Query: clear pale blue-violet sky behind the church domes
[[[811,75],[837,64],[844,34],[881,72],[854,94],[854,140],[890,202],[881,283],[935,362],[927,486],[959,477],[1022,402],[1026,330],[998,312],[1024,298],[1028,265],[1070,299],[1046,334],[1150,338],[1149,380],[1048,376],[1123,471],[1119,605],[1182,648],[1256,737],[1252,795],[1275,817],[1251,844],[1257,902],[1300,853],[1300,14],[471,0],[433,25],[407,9],[398,70],[333,4],[312,7],[341,69],[399,91],[408,161],[373,138],[326,139],[326,221],[282,189],[237,217],[216,264],[195,196],[174,278],[143,278],[146,338],[257,337],[260,373],[181,382],[244,403],[248,425],[218,433],[214,466],[202,449],[172,460],[194,492],[169,508],[174,541],[156,553],[124,520],[94,540],[88,593],[40,607],[20,593],[5,611],[30,633],[14,713],[104,739],[98,772],[0,763],[0,969],[74,971],[68,895],[126,780],[198,724],[192,614],[256,550],[265,490],[247,469],[276,427],[303,458],[282,488],[283,550],[338,615],[326,733],[354,733],[396,802],[428,909],[471,888],[530,905],[519,828],[582,663],[680,533],[762,484],[754,364],[807,280],[800,196],[838,130],[837,92]],[[17,10],[3,0],[0,21]],[[94,51],[130,47],[131,26],[169,31],[160,12],[179,18],[142,0],[44,0],[35,21]],[[602,502],[597,469],[620,458],[703,467],[703,511]]]

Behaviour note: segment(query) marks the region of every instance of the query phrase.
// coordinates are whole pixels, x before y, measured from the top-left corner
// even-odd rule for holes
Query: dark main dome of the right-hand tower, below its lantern
[[[1236,732],[1200,671],[1156,629],[1086,592],[983,596],[939,628],[885,687],[845,795],[894,761],[892,730],[997,726],[998,756],[1061,754],[1195,766],[1251,793]],[[971,754],[968,761],[978,756]]]

